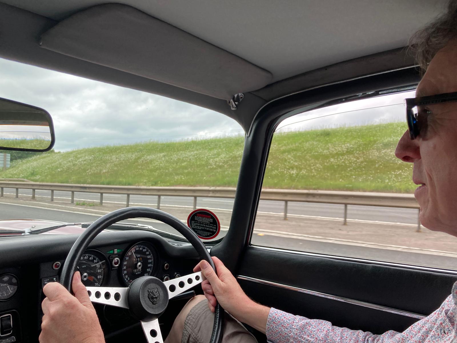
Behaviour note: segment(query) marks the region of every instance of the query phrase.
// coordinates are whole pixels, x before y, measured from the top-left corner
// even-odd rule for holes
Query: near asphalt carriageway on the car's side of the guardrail
[[[39,206],[39,204],[37,204]],[[64,222],[84,222],[94,221],[99,218],[96,214],[84,213],[81,209],[80,213],[70,211],[54,210],[37,208],[33,206],[19,206],[13,204],[0,203],[0,220],[4,219],[43,219],[43,220],[58,220]],[[149,224],[157,229],[176,232],[170,226],[159,222],[148,222],[146,220],[126,220],[126,222]],[[258,246],[270,247],[284,247],[291,248],[292,250],[307,251],[307,252],[325,252],[328,254],[335,254],[340,256],[361,257],[374,260],[384,260],[390,262],[423,265],[430,267],[452,268],[455,269],[457,265],[456,258],[446,257],[417,252],[404,252],[392,249],[364,247],[363,245],[346,245],[325,241],[310,241],[307,239],[297,239],[296,237],[281,237],[274,236],[268,233],[255,234],[252,242]]]

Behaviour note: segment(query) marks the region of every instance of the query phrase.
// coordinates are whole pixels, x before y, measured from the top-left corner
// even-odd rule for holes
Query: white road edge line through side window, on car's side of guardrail
[[[357,247],[368,247],[368,248],[376,248],[376,249],[396,250],[396,251],[402,251],[402,252],[416,252],[416,253],[423,253],[423,254],[429,254],[429,255],[457,257],[457,253],[446,252],[446,251],[442,251],[442,250],[434,250],[434,249],[403,247],[403,246],[364,242],[364,241],[351,241],[351,240],[345,240],[345,239],[340,239],[340,238],[330,238],[330,237],[327,238],[327,237],[321,237],[321,236],[295,234],[295,233],[276,231],[276,230],[255,229],[254,234],[256,232],[261,232],[261,233],[264,233],[264,235],[268,235],[268,236],[294,238],[294,239],[301,239],[301,240],[306,240],[306,241],[319,241],[319,242],[324,242],[324,243],[353,245],[353,246],[357,246]]]

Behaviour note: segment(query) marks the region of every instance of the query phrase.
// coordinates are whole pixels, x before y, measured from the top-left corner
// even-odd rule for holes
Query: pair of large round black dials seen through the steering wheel
[[[139,277],[154,276],[157,263],[158,254],[154,247],[148,242],[139,242],[127,249],[87,250],[80,258],[78,270],[85,286],[108,284],[112,279],[110,273],[117,274],[118,279],[129,286]]]

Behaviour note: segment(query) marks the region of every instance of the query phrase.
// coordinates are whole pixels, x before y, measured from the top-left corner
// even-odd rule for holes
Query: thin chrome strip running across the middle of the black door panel
[[[282,288],[282,289],[293,290],[293,291],[300,292],[300,293],[319,296],[319,297],[325,298],[325,299],[345,302],[347,304],[352,304],[352,305],[357,305],[357,306],[362,306],[362,307],[368,307],[368,308],[371,308],[373,310],[389,312],[389,313],[397,314],[397,315],[400,315],[400,316],[406,316],[406,317],[411,317],[411,318],[415,318],[415,319],[423,319],[423,318],[426,317],[426,316],[420,315],[418,313],[397,310],[397,309],[394,309],[394,308],[391,308],[391,307],[387,307],[387,306],[375,305],[375,304],[371,304],[371,303],[368,303],[368,302],[365,302],[365,301],[359,301],[359,300],[344,298],[344,297],[340,297],[340,296],[336,296],[336,295],[329,295],[329,294],[325,294],[325,293],[321,293],[321,292],[316,292],[314,290],[303,289],[303,288],[298,288],[298,287],[293,287],[293,286],[287,286],[285,284],[277,284],[276,282],[250,278],[249,276],[238,275],[237,279],[245,280],[245,281],[251,281],[251,282],[255,282],[257,284],[266,284],[268,286],[278,287],[278,288]]]

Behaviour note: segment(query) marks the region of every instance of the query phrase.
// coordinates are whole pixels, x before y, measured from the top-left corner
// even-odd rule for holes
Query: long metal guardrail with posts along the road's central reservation
[[[54,191],[70,192],[71,203],[74,203],[74,192],[100,193],[101,205],[103,204],[103,194],[125,194],[127,196],[127,207],[130,203],[130,195],[151,195],[157,196],[158,209],[160,208],[160,197],[162,196],[193,197],[193,207],[196,209],[197,198],[234,198],[236,191],[236,188],[228,187],[137,187],[0,181],[0,197],[3,197],[4,188],[16,188],[16,198],[19,198],[19,189],[32,189],[32,199],[35,199],[35,190],[49,190],[51,191],[51,201],[54,201]],[[419,209],[419,204],[417,204],[413,194],[402,193],[262,189],[260,199],[283,201],[284,219],[287,219],[287,207],[290,201],[341,204],[344,205],[343,225],[347,225],[348,205]],[[420,231],[419,217],[417,230]]]

